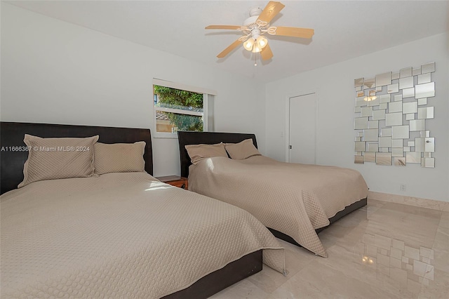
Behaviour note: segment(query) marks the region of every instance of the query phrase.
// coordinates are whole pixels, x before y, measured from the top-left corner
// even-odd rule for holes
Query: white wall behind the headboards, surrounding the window
[[[252,79],[1,3],[1,121],[154,130],[153,78],[217,91],[216,131],[263,140]],[[154,175],[180,173],[177,139],[153,150]]]

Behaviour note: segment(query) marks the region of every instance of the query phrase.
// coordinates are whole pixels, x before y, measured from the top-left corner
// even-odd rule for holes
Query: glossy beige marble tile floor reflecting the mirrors
[[[279,240],[286,277],[264,265],[211,298],[449,298],[449,212],[368,199],[319,237],[328,258]]]

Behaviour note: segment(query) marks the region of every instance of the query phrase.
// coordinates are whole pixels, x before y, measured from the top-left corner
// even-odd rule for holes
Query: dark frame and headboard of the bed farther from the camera
[[[187,150],[185,149],[185,145],[199,145],[199,144],[206,144],[206,145],[213,145],[215,143],[238,143],[246,139],[253,139],[254,146],[257,147],[257,141],[255,139],[255,134],[248,134],[248,133],[215,133],[215,132],[193,132],[193,131],[178,131],[177,132],[177,140],[179,142],[180,146],[180,162],[181,162],[181,175],[185,178],[189,177],[189,166],[192,165],[192,161],[190,161],[189,154],[187,153]],[[362,206],[366,206],[368,197],[364,199],[360,199],[359,201],[354,202],[354,204],[351,204],[344,208],[344,210],[338,212],[333,216],[332,218],[329,218],[329,222],[331,225],[333,222],[339,220],[344,215],[347,215],[351,213],[352,211],[356,211],[358,208],[361,208]],[[329,226],[328,225],[328,226]],[[326,227],[328,227],[326,226]],[[317,233],[321,232],[322,230],[326,229],[326,227],[321,227],[317,230],[315,230]],[[267,227],[272,234],[274,234],[274,237],[277,237],[279,239],[282,239],[284,241],[288,241],[291,244],[295,244],[297,246],[301,246],[300,244],[297,244],[297,242],[287,234],[284,234],[283,232],[279,232],[277,230],[272,229],[271,227]]]

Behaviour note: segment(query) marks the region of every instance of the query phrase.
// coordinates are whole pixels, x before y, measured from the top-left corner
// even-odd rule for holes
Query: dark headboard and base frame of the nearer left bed
[[[152,138],[147,128],[114,128],[103,126],[72,126],[61,124],[32,124],[19,122],[0,122],[0,183],[1,194],[14,190],[23,180],[23,166],[28,152],[23,150],[25,134],[43,138],[76,137],[84,138],[99,135],[98,142],[132,143],[145,141],[145,171],[153,174]],[[22,148],[22,150],[20,150]],[[262,270],[262,251],[255,251],[239,260],[229,263],[220,270],[199,279],[184,290],[164,298],[208,298],[237,281]]]

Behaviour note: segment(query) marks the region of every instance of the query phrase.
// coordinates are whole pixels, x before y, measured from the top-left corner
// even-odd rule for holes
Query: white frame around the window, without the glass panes
[[[166,81],[166,80],[162,80],[162,79],[156,79],[156,78],[153,78],[153,86],[154,85],[180,89],[182,91],[192,91],[194,93],[202,93],[203,94],[203,115],[202,115],[202,117],[203,117],[203,132],[213,131],[213,128],[214,128],[213,98],[215,97],[215,95],[217,95],[216,91],[213,91],[213,90],[207,89],[207,88],[196,87],[196,86],[188,86],[185,84],[180,84],[180,83]],[[154,91],[154,88],[152,88],[152,90]],[[156,110],[159,110],[159,111],[165,110],[168,112],[174,112],[174,111],[169,111],[169,110],[171,110],[170,108],[163,108],[163,107],[161,109],[156,109],[154,107],[154,92],[152,95],[153,95],[152,109],[153,109],[153,124],[154,124],[153,132],[152,132],[153,137],[154,138],[177,138],[177,133],[168,133],[168,132],[158,132],[157,131]],[[176,111],[175,113],[179,113],[179,111]],[[185,114],[195,115],[194,113],[185,113]]]

